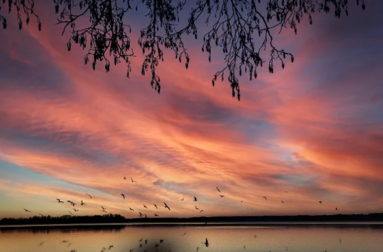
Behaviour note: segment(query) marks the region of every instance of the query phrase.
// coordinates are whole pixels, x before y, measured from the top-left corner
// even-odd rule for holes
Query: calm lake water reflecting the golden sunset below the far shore
[[[205,243],[209,240],[209,246]],[[163,240],[162,242],[160,240]],[[110,247],[112,246],[113,247]],[[1,252],[383,251],[383,225],[0,227]]]

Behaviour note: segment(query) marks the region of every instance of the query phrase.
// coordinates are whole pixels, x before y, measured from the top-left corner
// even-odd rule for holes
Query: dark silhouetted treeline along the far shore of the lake
[[[218,216],[192,218],[125,218],[119,214],[103,216],[33,216],[30,218],[3,218],[0,225],[49,225],[49,224],[91,224],[91,223],[230,223],[230,222],[371,222],[383,221],[383,213],[334,214],[297,216]]]

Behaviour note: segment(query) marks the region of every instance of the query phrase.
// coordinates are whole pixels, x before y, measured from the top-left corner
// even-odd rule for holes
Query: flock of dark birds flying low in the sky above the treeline
[[[124,179],[126,180],[126,177],[124,177]],[[130,180],[132,181],[132,183],[137,183],[137,181],[133,180],[132,177],[130,177]],[[220,197],[223,198],[224,195],[222,194],[220,188],[218,188],[218,186],[217,186],[216,188],[217,188],[218,192],[220,192]],[[288,193],[288,191],[286,191],[286,190],[284,190],[284,192],[285,192],[285,193]],[[92,196],[91,196],[90,194],[87,194],[87,193],[86,193],[86,195],[89,196],[90,199],[93,199]],[[123,199],[125,199],[125,194],[121,193],[121,194],[119,194],[119,195],[120,195],[121,197],[123,197]],[[263,198],[267,201],[267,197],[266,197],[266,196],[264,196]],[[184,201],[184,199],[185,199],[185,198],[181,199],[181,201]],[[64,201],[61,201],[60,199],[56,199],[56,200],[58,201],[58,203],[64,203]],[[193,200],[193,201],[194,201],[194,202],[198,201],[197,197],[194,196],[194,200]],[[242,202],[244,202],[244,201],[241,201],[241,203],[242,203]],[[75,208],[76,205],[78,205],[77,203],[74,203],[73,201],[67,201],[67,203],[70,203],[70,204],[73,206],[73,211],[74,211],[74,212],[78,212],[78,211],[79,211],[78,209]],[[281,203],[285,203],[285,202],[284,202],[284,201],[281,201]],[[322,201],[319,201],[319,203],[321,204]],[[164,207],[167,208],[167,209],[170,211],[170,207],[167,205],[167,203],[163,202],[163,204],[164,204]],[[86,205],[86,203],[84,203],[84,202],[81,200],[80,205]],[[156,207],[156,210],[158,210],[157,205],[156,205],[156,204],[153,204],[153,205],[154,205],[154,207]],[[108,213],[108,212],[106,212],[106,207],[103,207],[102,205],[101,205],[100,207],[102,208],[102,210],[100,210],[101,212],[105,212],[106,214]],[[204,212],[204,210],[200,210],[200,208],[198,208],[196,204],[194,205],[194,207],[196,208],[196,210],[199,210],[200,213],[201,213],[201,212]],[[146,205],[143,205],[143,208],[149,209]],[[25,212],[31,212],[30,210],[27,210],[27,209],[25,209],[25,208],[24,208],[24,210],[25,210]],[[132,211],[132,212],[135,212],[135,210],[133,210],[131,207],[129,207],[129,210]],[[338,207],[336,207],[335,210],[337,211],[337,210],[338,210]],[[71,211],[69,211],[69,213],[72,214],[72,215],[74,215]],[[40,215],[43,216],[43,214],[40,214]],[[143,216],[145,216],[145,217],[143,217]],[[139,212],[139,217],[140,217],[140,218],[148,218],[148,216],[147,216],[146,214],[142,214],[141,212]],[[159,217],[159,214],[154,213],[154,217]]]

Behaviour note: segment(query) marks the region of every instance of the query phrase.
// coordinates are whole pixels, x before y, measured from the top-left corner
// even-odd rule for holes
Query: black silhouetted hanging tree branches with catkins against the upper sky
[[[190,3],[190,1],[189,1]],[[357,5],[365,9],[364,0],[356,0]],[[149,24],[141,29],[139,47],[145,56],[141,74],[150,71],[150,84],[158,93],[161,91],[160,77],[156,67],[164,60],[164,49],[174,52],[179,62],[185,59],[185,67],[189,66],[189,54],[184,46],[184,35],[193,34],[198,38],[196,21],[205,17],[205,24],[210,27],[204,34],[202,52],[209,55],[211,61],[212,46],[220,47],[224,55],[224,67],[217,71],[212,78],[215,85],[218,77],[224,81],[228,75],[232,95],[240,100],[240,83],[238,75],[248,74],[249,79],[257,78],[257,69],[268,65],[268,71],[274,73],[276,61],[284,68],[286,57],[294,62],[294,55],[279,49],[273,44],[274,32],[280,33],[283,28],[294,29],[297,34],[297,24],[308,17],[312,24],[314,12],[328,13],[334,10],[340,18],[345,12],[348,16],[348,0],[196,0],[189,12],[187,23],[180,25],[180,14],[185,9],[186,0],[54,0],[56,14],[59,14],[58,25],[62,25],[62,35],[69,32],[67,49],[71,51],[72,42],[87,49],[84,62],[92,60],[95,70],[97,62],[104,62],[106,72],[109,71],[111,60],[115,65],[124,61],[127,67],[127,77],[132,68],[130,57],[135,53],[130,45],[130,25],[126,24],[124,16],[132,11],[146,8]],[[41,30],[41,22],[34,12],[34,0],[0,0],[0,21],[7,28],[7,19],[1,14],[1,7],[16,8],[19,29],[29,23],[34,16]],[[264,53],[268,49],[269,53]],[[267,62],[267,63],[266,63]]]

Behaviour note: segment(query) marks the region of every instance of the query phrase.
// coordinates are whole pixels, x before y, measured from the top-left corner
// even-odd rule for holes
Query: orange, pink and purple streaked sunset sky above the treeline
[[[383,1],[349,2],[349,17],[316,14],[276,36],[294,63],[240,79],[241,101],[227,80],[211,86],[222,55],[213,47],[209,63],[202,36],[185,37],[188,70],[165,52],[158,95],[141,75],[142,14],[130,17],[130,79],[124,64],[93,71],[68,52],[52,1],[38,5],[40,32],[12,15],[0,29],[0,218],[61,216],[67,200],[86,203],[78,215],[103,205],[127,218],[382,212]]]

